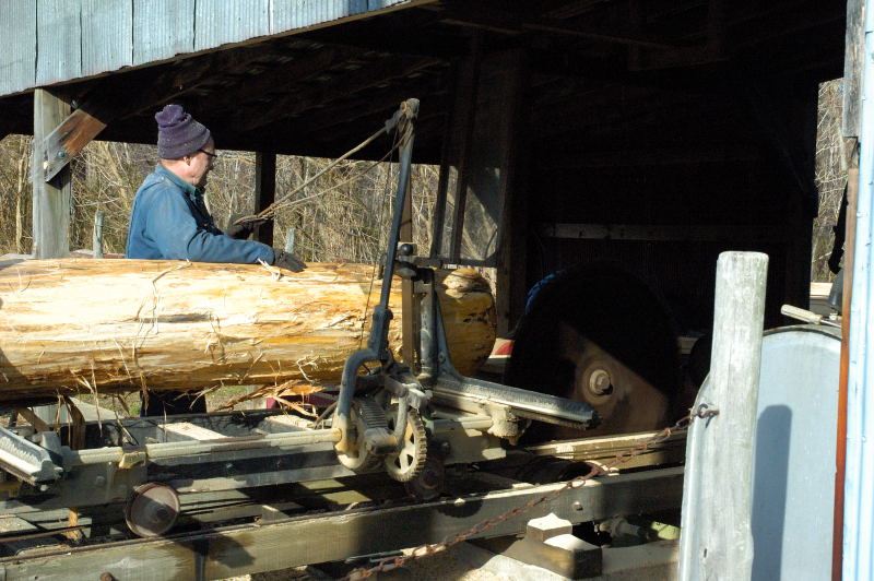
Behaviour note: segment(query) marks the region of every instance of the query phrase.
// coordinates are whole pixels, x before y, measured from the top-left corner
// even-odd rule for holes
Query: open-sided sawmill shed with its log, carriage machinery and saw
[[[864,9],[8,2],[33,250],[0,260],[0,577],[357,579],[451,549],[513,579],[869,578]],[[817,313],[839,78],[842,288]],[[392,162],[382,260],[71,256],[71,162],[154,145],[167,104],[256,152],[249,217],[277,155]],[[283,405],[97,403],[226,386]]]

